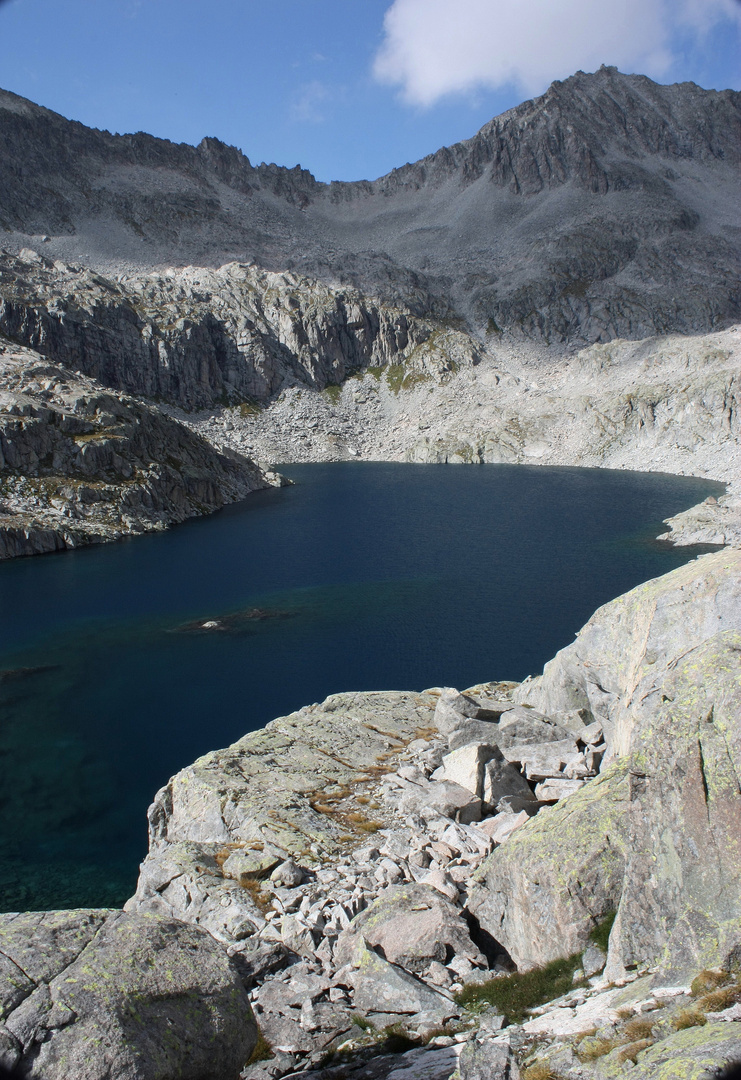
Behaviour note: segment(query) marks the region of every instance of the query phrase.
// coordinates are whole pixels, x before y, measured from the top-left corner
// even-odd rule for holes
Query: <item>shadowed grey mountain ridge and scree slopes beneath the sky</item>
[[[578,72],[374,181],[319,184],[0,95],[0,227],[89,265],[255,259],[553,343],[738,318],[741,95]],[[25,241],[24,239],[25,238]],[[17,247],[16,247],[17,249]]]

